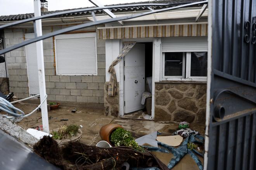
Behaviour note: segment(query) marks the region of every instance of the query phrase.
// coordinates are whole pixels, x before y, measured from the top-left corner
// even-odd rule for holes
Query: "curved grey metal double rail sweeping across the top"
[[[99,24],[106,24],[106,23],[109,23],[109,22],[115,22],[115,21],[119,21],[119,20],[133,19],[133,18],[137,18],[137,17],[142,17],[144,15],[149,15],[149,14],[154,14],[154,13],[159,13],[159,12],[164,12],[164,11],[168,11],[168,10],[173,10],[173,9],[183,8],[183,7],[189,7],[189,6],[192,6],[192,5],[199,5],[199,4],[204,4],[204,3],[208,3],[208,0],[205,0],[205,1],[202,1],[202,2],[187,3],[187,4],[183,4],[183,5],[179,5],[179,6],[175,6],[175,7],[163,8],[163,9],[159,9],[159,10],[150,10],[150,11],[144,12],[142,14],[135,14],[135,15],[124,16],[124,17],[116,17],[116,18],[99,20],[99,21],[95,20],[95,21],[92,21],[92,22],[89,22],[89,23],[80,24],[80,25],[77,25],[77,26],[67,27],[65,29],[50,32],[50,33],[44,34],[44,35],[39,36],[39,37],[37,37],[35,35],[35,38],[33,38],[33,39],[29,39],[29,40],[21,42],[19,44],[15,44],[15,45],[13,45],[9,48],[5,48],[5,49],[0,50],[0,55],[4,54],[4,53],[7,53],[9,51],[12,51],[14,49],[17,49],[17,48],[21,48],[21,47],[26,46],[28,44],[31,44],[33,42],[40,41],[40,40],[43,40],[43,39],[47,39],[49,37],[53,37],[53,36],[56,36],[56,35],[59,35],[59,34],[63,34],[65,32],[70,32],[70,31],[82,29],[82,28],[85,28],[85,27],[95,26],[95,25],[99,25]],[[43,18],[52,17],[52,16],[56,16],[56,15],[62,15],[62,14],[70,14],[70,13],[73,13],[73,12],[93,11],[93,10],[107,9],[107,8],[117,8],[117,7],[136,7],[136,6],[142,6],[142,5],[143,6],[152,6],[152,5],[155,5],[155,6],[156,5],[158,5],[158,6],[163,6],[163,5],[170,6],[170,5],[174,5],[174,4],[173,3],[172,4],[142,3],[142,4],[114,5],[114,6],[109,6],[109,7],[93,7],[93,8],[86,8],[86,9],[80,9],[80,10],[71,10],[71,11],[65,11],[65,12],[54,13],[54,14],[47,14],[47,15],[42,15],[40,17],[34,17],[34,18],[31,18],[31,19],[25,19],[25,20],[17,21],[17,22],[14,22],[14,23],[10,23],[10,24],[0,26],[0,29],[6,28],[6,27],[9,27],[9,26],[14,26],[14,25],[17,25],[17,24],[21,24],[21,23],[24,23],[24,22],[31,22],[31,21],[35,22],[35,20],[38,20],[38,19],[43,19]]]

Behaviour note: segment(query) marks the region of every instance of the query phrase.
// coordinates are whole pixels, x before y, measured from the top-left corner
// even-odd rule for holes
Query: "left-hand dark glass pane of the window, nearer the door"
[[[165,53],[164,76],[182,76],[183,53]]]

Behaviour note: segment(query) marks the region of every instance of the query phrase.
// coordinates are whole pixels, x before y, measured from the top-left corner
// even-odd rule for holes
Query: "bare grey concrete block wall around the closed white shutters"
[[[67,26],[43,27],[43,34],[63,29]],[[102,27],[102,26],[99,26]],[[96,27],[88,27],[80,31],[96,31]],[[33,29],[5,29],[5,44],[7,47],[23,42],[25,33]],[[86,34],[86,33],[85,33]],[[97,34],[98,36],[98,34]],[[45,82],[47,100],[61,102],[82,102],[101,105],[104,104],[105,83],[105,40],[97,37],[97,76],[59,76],[56,75],[54,63],[54,38],[43,40],[43,53],[45,64]],[[18,98],[29,96],[28,76],[25,47],[6,54],[9,72],[10,91]]]

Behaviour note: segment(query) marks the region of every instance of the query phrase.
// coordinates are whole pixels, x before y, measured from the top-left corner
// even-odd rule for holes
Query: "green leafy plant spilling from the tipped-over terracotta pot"
[[[135,139],[131,136],[131,133],[123,128],[117,128],[111,134],[110,140],[115,146],[128,146],[137,151],[144,151],[142,146],[139,146]]]

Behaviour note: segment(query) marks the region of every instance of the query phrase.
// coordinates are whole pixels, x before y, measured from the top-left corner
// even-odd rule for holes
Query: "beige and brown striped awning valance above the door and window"
[[[208,24],[99,28],[99,39],[207,36]]]

